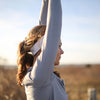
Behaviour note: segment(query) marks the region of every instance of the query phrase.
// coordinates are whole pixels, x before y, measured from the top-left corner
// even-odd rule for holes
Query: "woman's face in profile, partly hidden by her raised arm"
[[[62,50],[61,46],[62,46],[62,43],[61,43],[61,40],[60,40],[58,51],[57,51],[57,56],[56,56],[56,59],[55,59],[55,65],[59,65],[59,61],[60,61],[61,55],[64,53],[64,51]]]

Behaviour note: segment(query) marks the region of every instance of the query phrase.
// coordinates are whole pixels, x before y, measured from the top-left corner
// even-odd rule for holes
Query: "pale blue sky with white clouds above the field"
[[[38,24],[42,0],[0,0],[0,63],[16,64],[18,43]],[[61,64],[100,63],[100,0],[61,0]]]

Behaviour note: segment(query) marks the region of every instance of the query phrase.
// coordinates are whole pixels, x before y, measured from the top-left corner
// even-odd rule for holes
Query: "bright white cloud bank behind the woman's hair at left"
[[[10,64],[16,63],[18,43],[36,23],[37,19],[32,16],[14,11],[7,18],[0,17],[0,56],[7,58]]]

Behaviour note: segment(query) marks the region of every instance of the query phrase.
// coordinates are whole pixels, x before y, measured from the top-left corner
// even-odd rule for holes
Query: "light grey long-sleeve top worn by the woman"
[[[23,79],[27,100],[67,100],[64,81],[53,73],[61,35],[60,0],[43,0],[39,24],[46,25],[42,51]]]

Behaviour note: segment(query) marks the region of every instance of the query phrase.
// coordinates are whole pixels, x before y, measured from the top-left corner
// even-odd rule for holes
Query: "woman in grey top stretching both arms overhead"
[[[60,0],[42,1],[39,24],[19,44],[18,84],[25,86],[27,100],[67,100],[64,81],[54,72],[63,54]]]

